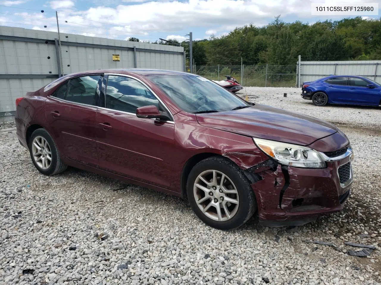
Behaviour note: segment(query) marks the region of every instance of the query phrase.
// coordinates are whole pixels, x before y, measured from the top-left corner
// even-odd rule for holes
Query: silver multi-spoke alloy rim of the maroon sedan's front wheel
[[[234,217],[239,207],[237,188],[232,180],[217,170],[203,171],[193,187],[194,199],[207,217],[226,221]]]

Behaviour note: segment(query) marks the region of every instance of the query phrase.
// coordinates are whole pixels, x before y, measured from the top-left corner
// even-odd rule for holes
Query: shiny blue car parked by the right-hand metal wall
[[[362,76],[328,76],[303,82],[301,96],[316,106],[327,103],[381,106],[381,85]]]

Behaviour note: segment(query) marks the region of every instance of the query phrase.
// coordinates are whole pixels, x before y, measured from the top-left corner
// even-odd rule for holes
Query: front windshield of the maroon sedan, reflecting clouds
[[[149,79],[189,113],[224,112],[252,106],[201,76],[176,74],[149,76]]]

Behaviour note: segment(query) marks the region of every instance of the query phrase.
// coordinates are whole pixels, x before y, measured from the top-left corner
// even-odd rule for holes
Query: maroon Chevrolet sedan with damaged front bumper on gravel
[[[69,165],[181,196],[215,228],[257,210],[263,225],[301,225],[343,209],[351,192],[352,149],[338,128],[194,74],[69,74],[16,106],[19,141],[42,174]]]

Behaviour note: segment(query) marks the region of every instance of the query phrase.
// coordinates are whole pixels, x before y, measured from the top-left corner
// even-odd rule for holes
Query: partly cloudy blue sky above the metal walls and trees
[[[247,24],[264,26],[277,15],[310,24],[354,17],[311,16],[311,3],[339,2],[379,3],[381,8],[381,0],[0,0],[0,26],[57,32],[58,11],[62,33],[152,42],[182,41],[192,32],[193,40],[202,40]]]

